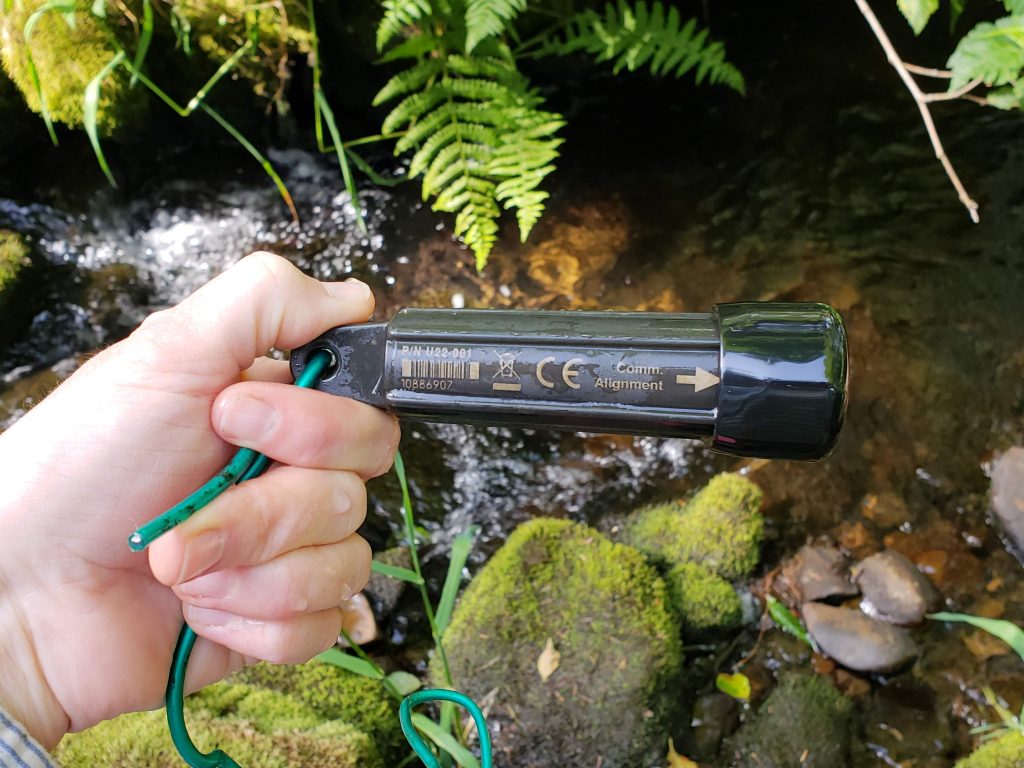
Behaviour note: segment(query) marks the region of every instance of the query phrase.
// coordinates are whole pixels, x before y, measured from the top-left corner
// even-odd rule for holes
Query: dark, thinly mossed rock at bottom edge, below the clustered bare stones
[[[735,768],[836,768],[850,765],[853,705],[816,675],[782,678],[726,741]]]

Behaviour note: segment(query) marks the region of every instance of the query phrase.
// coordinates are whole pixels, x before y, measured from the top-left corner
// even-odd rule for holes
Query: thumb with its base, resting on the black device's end
[[[150,315],[136,334],[160,350],[161,367],[233,381],[270,347],[292,349],[374,311],[359,281],[321,283],[290,261],[259,252],[214,278],[180,304]]]

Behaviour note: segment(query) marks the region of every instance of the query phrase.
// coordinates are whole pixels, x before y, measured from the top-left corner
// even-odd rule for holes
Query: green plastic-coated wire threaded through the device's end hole
[[[309,388],[316,384],[331,364],[332,356],[327,352],[313,354],[306,362],[299,378],[295,381],[298,387]],[[176,525],[180,525],[203,507],[208,505],[233,484],[251,480],[266,471],[271,460],[252,449],[240,450],[220,472],[207,481],[201,488],[175,504],[159,517],[139,527],[128,538],[128,546],[135,552],[145,549]],[[167,693],[164,696],[167,706],[167,727],[175,749],[191,768],[242,768],[222,750],[203,753],[196,746],[188,735],[185,725],[185,672],[188,669],[188,656],[196,645],[197,635],[188,625],[181,628],[178,642],[171,656],[171,670],[167,680]],[[409,740],[426,768],[440,768],[437,758],[420,736],[413,725],[413,708],[426,701],[452,701],[469,711],[476,723],[480,737],[481,768],[492,768],[490,737],[487,734],[487,724],[483,714],[476,703],[465,693],[453,690],[421,690],[410,694],[402,700],[398,709],[398,719],[402,733]]]

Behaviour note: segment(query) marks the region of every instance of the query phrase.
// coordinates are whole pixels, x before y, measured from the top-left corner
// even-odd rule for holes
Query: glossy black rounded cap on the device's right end
[[[846,413],[846,329],[825,304],[715,307],[722,340],[716,450],[820,459]]]

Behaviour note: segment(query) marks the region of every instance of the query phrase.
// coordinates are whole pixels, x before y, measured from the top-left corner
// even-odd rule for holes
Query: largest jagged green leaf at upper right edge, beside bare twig
[[[1016,84],[1024,69],[1024,15],[979,24],[957,43],[947,66],[951,91],[976,78],[988,86]]]

